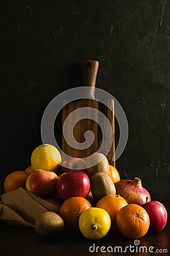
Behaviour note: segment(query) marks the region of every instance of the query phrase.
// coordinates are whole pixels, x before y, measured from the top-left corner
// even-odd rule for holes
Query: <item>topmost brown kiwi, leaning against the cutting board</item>
[[[103,172],[109,174],[109,162],[105,155],[95,152],[88,156],[86,160],[87,173],[89,177],[92,177],[97,172]]]

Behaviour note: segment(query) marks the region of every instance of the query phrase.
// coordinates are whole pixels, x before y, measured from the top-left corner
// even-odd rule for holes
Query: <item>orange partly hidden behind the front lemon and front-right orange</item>
[[[116,215],[127,204],[126,200],[120,195],[107,195],[97,202],[96,207],[102,208],[109,213],[112,222],[111,230],[116,231]]]

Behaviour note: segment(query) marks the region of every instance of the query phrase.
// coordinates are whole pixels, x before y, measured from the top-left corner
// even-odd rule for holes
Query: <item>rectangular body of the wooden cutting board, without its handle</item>
[[[65,100],[63,104],[67,104],[67,101]],[[104,120],[100,119],[98,120],[98,123],[103,124],[103,133],[98,125],[97,122],[92,121],[91,119],[82,119],[81,121],[77,122],[76,125],[74,126],[75,119],[79,120],[82,118],[80,115],[75,115],[73,118],[69,119],[67,129],[65,130],[65,135],[70,136],[71,134],[71,129],[73,129],[73,135],[74,138],[77,142],[82,143],[84,142],[84,133],[87,130],[90,130],[94,133],[95,139],[94,142],[90,147],[87,147],[86,150],[79,150],[74,148],[74,143],[71,146],[66,143],[65,138],[63,137],[62,133],[62,151],[65,152],[65,154],[72,156],[72,157],[78,157],[78,158],[86,158],[93,152],[96,152],[99,147],[101,146],[101,142],[103,141],[103,147],[100,148],[100,152],[104,154],[105,151],[108,150],[108,142],[112,140],[112,146],[107,154],[107,159],[109,164],[112,164],[113,166],[116,166],[116,161],[114,156],[115,152],[115,131],[114,131],[114,100],[113,99],[108,99],[106,102],[106,105],[101,105],[100,102],[97,100],[90,100],[90,99],[83,99],[83,100],[77,100],[70,102],[69,104],[65,105],[63,107],[63,113],[62,113],[62,127],[63,123],[65,122],[65,119],[67,116],[72,113],[74,110],[79,109],[79,108],[85,108],[86,106],[90,108],[95,108],[97,111],[101,111],[108,119],[109,123],[111,124],[112,130],[109,129],[109,123]],[[109,108],[108,108],[109,107]],[[94,113],[92,113],[90,110],[88,112],[89,118],[94,118]],[[95,117],[98,119],[97,117]],[[101,117],[102,118],[102,117]],[[90,143],[90,140],[87,137],[87,145]],[[64,157],[62,156],[63,160]]]

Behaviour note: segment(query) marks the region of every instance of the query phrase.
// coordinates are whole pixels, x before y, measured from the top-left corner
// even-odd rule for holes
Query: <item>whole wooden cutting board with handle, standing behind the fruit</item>
[[[65,152],[65,154],[72,157],[86,158],[87,156],[89,156],[90,154],[98,150],[98,148],[101,145],[103,135],[97,122],[98,114],[96,114],[96,112],[95,112],[95,121],[92,120],[94,119],[94,111],[93,111],[93,108],[94,108],[104,113],[105,116],[108,118],[109,122],[111,123],[112,130],[113,130],[113,143],[112,143],[111,150],[107,155],[107,158],[108,158],[109,164],[112,164],[113,166],[115,166],[115,161],[113,160],[113,155],[115,151],[114,114],[110,109],[107,108],[107,106],[100,104],[100,102],[97,99],[95,99],[95,85],[96,85],[96,76],[97,76],[98,68],[99,68],[99,61],[97,60],[84,60],[81,62],[82,86],[88,86],[89,90],[86,95],[88,96],[88,98],[83,98],[82,96],[80,100],[71,101],[69,103],[67,102],[67,100],[64,100],[63,101],[64,106],[62,109],[62,127],[63,127],[63,123],[65,122],[69,114],[71,114],[74,110],[78,110],[79,108],[88,107],[88,118],[84,118],[80,120],[84,116],[82,115],[83,112],[81,112],[81,113],[76,113],[76,115],[73,115],[72,118],[69,119],[69,122],[67,122],[67,126],[65,129],[65,135],[66,137],[69,136],[71,129],[73,129],[74,127],[73,135],[75,140],[79,143],[83,143],[85,141],[84,133],[90,130],[92,131],[92,133],[94,133],[94,142],[91,144],[91,146],[87,147],[86,149],[83,149],[83,150],[78,149],[74,147],[74,142],[71,143],[71,146],[66,142],[62,132],[62,151]],[[110,106],[110,108],[114,111],[113,99],[108,99],[106,104],[108,104],[108,106]],[[87,109],[86,109],[86,112],[87,112]],[[78,121],[76,125],[74,125],[76,120],[80,120],[80,121]],[[100,122],[102,121],[103,120],[100,120]],[[112,134],[108,133],[107,122],[103,123],[103,127],[104,127],[104,134],[105,134],[105,141],[103,145],[103,150],[104,150],[105,147],[107,148],[107,141],[111,139]],[[86,137],[86,143],[87,145],[90,144],[90,139],[88,138],[88,136]],[[102,148],[100,152],[102,152]],[[65,160],[63,156],[62,156],[62,160]]]

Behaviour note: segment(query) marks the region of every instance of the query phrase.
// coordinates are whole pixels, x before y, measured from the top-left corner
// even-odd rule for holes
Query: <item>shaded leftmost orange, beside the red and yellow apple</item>
[[[25,188],[25,181],[28,175],[28,172],[25,171],[15,171],[8,174],[4,181],[5,191],[10,192],[20,187]]]

